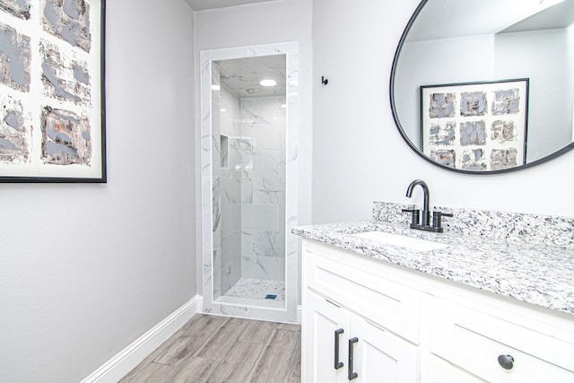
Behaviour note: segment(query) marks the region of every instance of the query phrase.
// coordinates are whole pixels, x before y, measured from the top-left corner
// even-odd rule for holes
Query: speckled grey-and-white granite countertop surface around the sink
[[[351,235],[376,230],[450,246],[415,251]],[[574,315],[574,248],[457,233],[414,231],[406,225],[386,222],[300,226],[292,232],[367,257]]]

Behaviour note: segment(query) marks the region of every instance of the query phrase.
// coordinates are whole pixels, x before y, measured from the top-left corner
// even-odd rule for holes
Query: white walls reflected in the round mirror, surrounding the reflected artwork
[[[421,85],[528,77],[526,161],[561,150],[572,135],[567,31],[532,30],[405,44],[395,80],[396,109],[405,133],[413,144],[420,143]]]

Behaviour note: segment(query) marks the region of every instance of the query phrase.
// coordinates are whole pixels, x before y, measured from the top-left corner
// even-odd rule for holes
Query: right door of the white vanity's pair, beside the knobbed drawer
[[[419,381],[419,352],[413,345],[352,316],[353,383],[415,383]],[[349,350],[350,351],[350,350]]]

